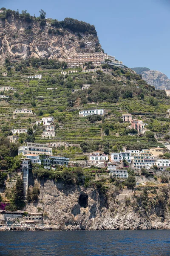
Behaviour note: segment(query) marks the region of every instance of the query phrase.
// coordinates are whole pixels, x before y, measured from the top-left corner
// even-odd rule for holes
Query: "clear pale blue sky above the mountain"
[[[105,52],[170,78],[170,0],[0,0],[0,7],[94,24]]]

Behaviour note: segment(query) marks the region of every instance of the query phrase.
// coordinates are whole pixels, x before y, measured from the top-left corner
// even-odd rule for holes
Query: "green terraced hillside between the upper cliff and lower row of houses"
[[[122,123],[120,119],[122,113],[131,113],[133,119],[146,122],[148,130],[161,137],[161,140],[169,134],[170,119],[167,110],[170,108],[170,100],[164,91],[147,85],[133,71],[117,67],[111,69],[105,65],[109,73],[100,70],[83,73],[82,69],[78,69],[77,73],[63,76],[61,64],[58,69],[45,69],[44,66],[42,69],[41,65],[35,67],[40,61],[32,59],[21,61],[20,64],[10,64],[7,61],[6,66],[1,67],[0,74],[11,65],[7,76],[0,75],[0,86],[14,88],[1,92],[9,96],[0,99],[1,135],[4,132],[8,135],[11,128],[31,128],[43,116],[53,116],[55,138],[42,139],[43,126],[40,126],[29,137],[30,141],[65,141],[74,144],[89,142],[92,145],[96,143],[97,148],[102,148],[109,142],[110,150],[115,145],[119,149],[126,145],[141,148],[161,145],[155,138],[129,134],[126,129],[129,124]],[[42,74],[42,79],[28,79],[28,76],[35,74]],[[88,90],[81,90],[82,84],[91,86]],[[79,90],[72,93],[72,89]],[[34,114],[17,115],[13,118],[13,111],[21,108],[31,109]],[[108,115],[103,116],[100,121],[79,117],[80,110],[95,108],[104,108]]]

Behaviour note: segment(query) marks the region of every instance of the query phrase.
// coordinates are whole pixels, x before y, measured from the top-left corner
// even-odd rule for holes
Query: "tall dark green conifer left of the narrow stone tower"
[[[24,184],[23,180],[17,178],[17,182],[14,190],[14,203],[18,208],[22,208],[25,205],[25,196],[24,196]]]

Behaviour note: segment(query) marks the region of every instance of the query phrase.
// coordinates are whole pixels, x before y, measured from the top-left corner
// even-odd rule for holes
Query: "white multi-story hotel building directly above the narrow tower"
[[[23,145],[18,148],[18,154],[44,154],[51,156],[52,148],[48,147],[46,144],[27,142],[26,146]]]

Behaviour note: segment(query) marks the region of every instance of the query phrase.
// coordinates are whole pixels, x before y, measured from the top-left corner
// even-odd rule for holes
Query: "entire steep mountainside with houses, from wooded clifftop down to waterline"
[[[99,61],[94,26],[44,15],[0,14],[0,224],[170,229],[169,97],[113,56]],[[78,52],[97,60],[69,68]]]

